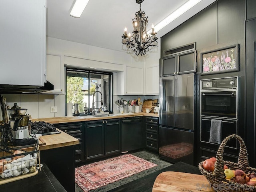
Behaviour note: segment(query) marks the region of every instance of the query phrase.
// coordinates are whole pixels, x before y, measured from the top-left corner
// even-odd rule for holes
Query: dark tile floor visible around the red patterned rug
[[[113,182],[113,183],[110,183],[106,186],[102,186],[100,188],[97,188],[95,190],[90,190],[90,192],[108,192],[109,190],[112,190],[118,186],[121,186],[121,185],[124,185],[128,182],[131,182],[131,181],[134,181],[134,180],[137,180],[138,178],[142,178],[148,174],[151,174],[151,173],[154,173],[158,170],[161,170],[163,168],[166,168],[170,165],[172,165],[171,163],[169,162],[166,162],[165,160],[162,160],[158,157],[158,154],[155,154],[155,153],[152,153],[152,152],[149,152],[149,151],[139,151],[139,152],[133,152],[132,153],[133,155],[137,156],[137,157],[140,157],[140,158],[143,158],[145,160],[148,160],[154,164],[157,164],[158,166],[155,166],[153,168],[150,168],[148,170],[145,170],[145,171],[142,171],[140,173],[137,173],[137,174],[134,174],[130,177],[127,177],[127,178],[124,178],[124,179],[121,179],[121,180],[118,180],[116,182]],[[75,186],[75,192],[83,192],[83,190],[76,184]]]

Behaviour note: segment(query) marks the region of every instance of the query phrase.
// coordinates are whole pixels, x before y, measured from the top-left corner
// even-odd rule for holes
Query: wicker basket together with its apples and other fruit
[[[223,160],[224,147],[230,139],[237,139],[240,144],[237,163]],[[236,134],[222,141],[216,158],[200,162],[198,168],[217,192],[256,192],[256,169],[249,166],[244,141]]]

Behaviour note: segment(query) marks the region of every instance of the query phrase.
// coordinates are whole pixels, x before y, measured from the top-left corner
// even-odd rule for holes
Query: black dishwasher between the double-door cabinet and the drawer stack
[[[122,119],[122,152],[143,148],[142,117]]]

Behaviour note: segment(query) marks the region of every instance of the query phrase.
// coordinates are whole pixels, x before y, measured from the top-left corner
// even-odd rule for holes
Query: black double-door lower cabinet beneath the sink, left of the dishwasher
[[[121,152],[120,119],[85,123],[85,160]]]

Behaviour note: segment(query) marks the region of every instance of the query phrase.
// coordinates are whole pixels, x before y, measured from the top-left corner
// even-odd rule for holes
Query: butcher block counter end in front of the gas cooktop
[[[41,138],[46,143],[40,146],[40,150],[54,149],[79,144],[79,140],[58,129],[60,134],[43,135]]]

